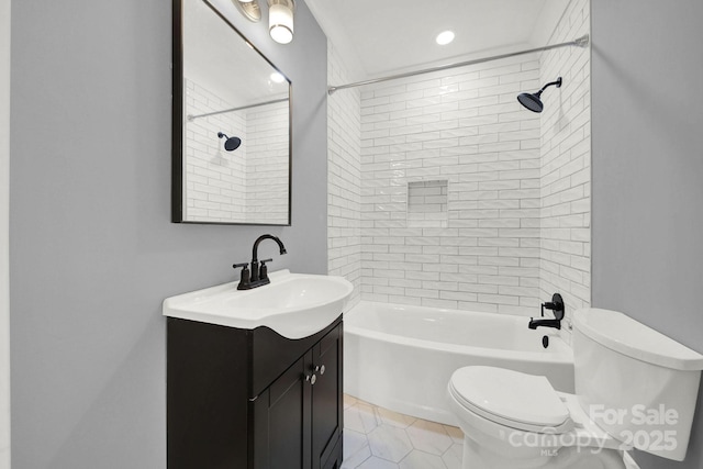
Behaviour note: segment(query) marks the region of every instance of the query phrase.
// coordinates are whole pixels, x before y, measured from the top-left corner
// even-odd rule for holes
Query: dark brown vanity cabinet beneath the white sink
[[[169,469],[338,469],[342,316],[292,340],[168,319]]]

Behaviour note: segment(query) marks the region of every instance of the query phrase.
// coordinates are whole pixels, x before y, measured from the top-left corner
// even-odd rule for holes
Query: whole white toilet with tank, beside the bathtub
[[[632,447],[683,460],[703,356],[599,309],[574,312],[572,342],[576,394],[502,368],[454,372],[465,469],[622,469]]]

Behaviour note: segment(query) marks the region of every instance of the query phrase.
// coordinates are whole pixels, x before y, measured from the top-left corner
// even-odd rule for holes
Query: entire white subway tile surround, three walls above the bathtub
[[[550,42],[588,32],[588,5],[572,1]],[[330,83],[348,82],[328,49]],[[588,305],[589,57],[568,47],[330,97],[331,273],[370,301],[536,315],[560,291]],[[517,103],[558,76],[543,114]],[[416,197],[431,185],[446,202]]]

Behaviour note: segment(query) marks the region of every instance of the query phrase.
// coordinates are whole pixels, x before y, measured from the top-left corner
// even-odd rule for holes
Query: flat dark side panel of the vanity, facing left
[[[168,469],[246,468],[246,333],[175,317],[167,327]]]

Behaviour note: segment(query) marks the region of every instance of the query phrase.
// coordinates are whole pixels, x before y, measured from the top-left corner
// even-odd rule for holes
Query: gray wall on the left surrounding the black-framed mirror
[[[272,269],[326,271],[326,38],[297,3],[288,46],[238,24],[293,82],[292,226],[271,228],[169,222],[170,2],[13,2],[14,469],[166,467],[161,301],[234,280],[266,232]]]

